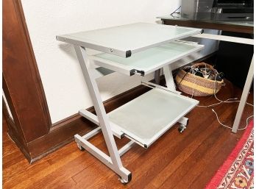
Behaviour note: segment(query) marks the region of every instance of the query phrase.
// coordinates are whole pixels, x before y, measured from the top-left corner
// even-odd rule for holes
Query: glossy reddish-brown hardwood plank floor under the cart
[[[218,93],[219,99],[239,97],[241,90],[230,82]],[[201,97],[200,104],[213,104],[216,99]],[[253,94],[249,95],[253,103]],[[214,107],[220,120],[231,125],[238,103]],[[253,114],[246,106],[241,126]],[[187,115],[188,129],[182,134],[173,126],[149,149],[134,146],[121,157],[124,167],[132,172],[132,181],[122,185],[118,176],[72,142],[47,157],[29,165],[7,135],[3,119],[3,187],[4,188],[204,188],[218,167],[241,138],[218,124],[210,108],[196,107]],[[102,135],[91,142],[106,150]],[[118,146],[125,141],[117,140]]]

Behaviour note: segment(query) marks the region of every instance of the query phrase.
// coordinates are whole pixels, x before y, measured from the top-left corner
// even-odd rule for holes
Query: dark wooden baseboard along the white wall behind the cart
[[[104,107],[107,112],[110,112],[122,104],[135,99],[137,96],[140,96],[148,90],[149,88],[142,85],[132,88],[132,90],[128,90],[125,93],[121,93],[120,95],[113,97],[112,99],[104,101]],[[94,113],[93,107],[88,108],[88,110]],[[56,151],[57,149],[60,149],[60,147],[73,141],[74,135],[84,135],[94,128],[96,128],[95,124],[85,118],[82,118],[82,116],[79,114],[72,115],[69,118],[65,118],[63,121],[59,121],[57,124],[54,124],[48,134],[27,143],[29,157],[24,153],[24,151],[22,152],[29,160],[29,163],[34,163],[35,161],[40,160],[42,157],[45,157],[47,154],[50,154],[51,152]],[[16,144],[20,146],[19,143]]]

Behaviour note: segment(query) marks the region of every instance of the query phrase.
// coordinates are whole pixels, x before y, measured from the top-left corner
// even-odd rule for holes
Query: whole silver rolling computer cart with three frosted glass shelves
[[[123,167],[121,155],[131,149],[134,143],[147,149],[177,122],[182,132],[188,124],[188,118],[183,116],[199,103],[181,96],[175,90],[170,64],[203,48],[197,43],[179,40],[201,32],[202,29],[138,23],[57,36],[57,40],[74,45],[96,110],[96,115],[87,110],[79,110],[79,114],[99,126],[84,136],[75,135],[77,146],[86,149],[115,171],[121,176],[122,183],[129,182],[132,174]],[[89,56],[86,49],[102,53]],[[97,67],[128,76],[145,76],[163,68],[167,88],[142,81],[142,85],[152,90],[106,113],[96,77],[92,74]],[[88,141],[101,131],[110,156]],[[127,137],[130,141],[118,150],[113,135]]]

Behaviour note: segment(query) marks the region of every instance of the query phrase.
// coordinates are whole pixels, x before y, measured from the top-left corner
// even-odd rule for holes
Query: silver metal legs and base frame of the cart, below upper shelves
[[[129,149],[131,149],[135,143],[138,143],[140,146],[143,146],[144,148],[148,148],[148,146],[147,145],[145,146],[145,144],[138,142],[138,140],[133,138],[132,135],[127,135],[126,133],[122,132],[119,126],[115,125],[113,122],[109,120],[109,118],[107,117],[107,113],[104,110],[104,105],[102,103],[99,89],[96,84],[96,80],[95,80],[96,78],[94,78],[93,75],[91,74],[92,68],[90,67],[90,59],[86,54],[86,50],[84,47],[76,46],[76,45],[74,45],[74,49],[77,53],[77,58],[82,68],[82,73],[85,78],[85,82],[88,86],[88,90],[90,92],[90,96],[96,110],[96,115],[88,112],[87,110],[79,110],[79,114],[87,118],[88,120],[92,121],[94,124],[98,125],[96,129],[93,129],[91,132],[89,132],[84,136],[75,135],[74,136],[75,141],[77,142],[77,146],[79,147],[79,149],[81,150],[86,149],[88,152],[90,152],[90,154],[93,154],[94,157],[99,159],[102,163],[104,163],[113,171],[115,171],[116,174],[121,176],[121,182],[127,183],[132,179],[132,174],[122,165],[121,155],[123,155]],[[151,88],[159,88],[160,90],[168,90],[169,92],[180,94],[175,90],[174,79],[171,74],[171,66],[166,65],[164,68],[164,72],[166,74],[167,88],[164,88],[160,85],[155,85],[152,82],[142,82],[142,84],[149,86]],[[184,96],[183,98],[186,98],[186,97]],[[190,107],[188,112],[191,109],[192,107]],[[175,123],[176,122],[179,122],[180,124],[186,126],[188,124],[188,118],[182,117],[179,120],[175,121]],[[171,126],[173,126],[173,124],[171,124]],[[170,129],[171,126],[166,126],[164,128],[164,132]],[[162,130],[160,132],[163,135],[164,132]],[[97,135],[99,132],[102,132],[104,136],[104,140],[107,144],[107,150],[109,151],[110,156],[105,154],[96,146],[93,146],[93,144],[88,141],[90,138]],[[129,138],[130,141],[129,143],[127,143],[121,149],[118,150],[115,144],[113,135],[115,135],[118,138],[123,138],[125,136]],[[154,137],[149,143],[149,145],[151,145],[159,137],[160,135],[159,136],[157,135],[157,137]]]

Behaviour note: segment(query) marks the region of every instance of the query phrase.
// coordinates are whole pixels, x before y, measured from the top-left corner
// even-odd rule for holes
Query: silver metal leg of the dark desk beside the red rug
[[[243,87],[243,93],[242,93],[242,96],[241,96],[241,101],[240,101],[239,106],[238,106],[238,111],[235,115],[235,121],[234,121],[234,124],[233,124],[233,127],[232,127],[232,132],[238,132],[238,126],[239,126],[240,121],[241,121],[243,108],[246,105],[247,97],[249,95],[249,90],[250,90],[251,85],[252,85],[253,67],[254,67],[253,57],[254,57],[254,55],[252,56],[252,62],[251,62],[251,65],[250,65],[250,68],[249,68],[249,71],[248,71],[248,75],[247,75],[247,78],[246,78],[246,83],[244,84],[244,87]]]

